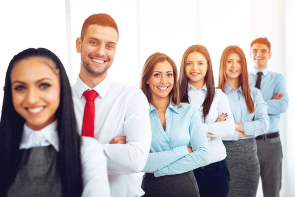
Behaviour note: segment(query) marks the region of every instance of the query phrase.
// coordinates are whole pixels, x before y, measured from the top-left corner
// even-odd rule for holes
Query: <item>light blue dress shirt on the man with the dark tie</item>
[[[252,72],[249,72],[249,84],[251,86],[255,86],[256,84],[257,72],[259,70],[256,68]],[[267,133],[277,132],[279,131],[280,114],[287,110],[289,104],[284,76],[269,71],[267,67],[262,70],[262,73],[260,90],[267,104],[267,114],[270,122]],[[283,97],[281,99],[271,99],[276,92],[282,93]]]

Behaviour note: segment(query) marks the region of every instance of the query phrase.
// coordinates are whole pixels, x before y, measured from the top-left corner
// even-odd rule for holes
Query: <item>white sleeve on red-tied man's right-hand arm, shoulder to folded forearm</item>
[[[135,93],[128,95],[124,106],[124,134],[127,143],[104,145],[109,174],[141,172],[148,159],[151,143],[149,105],[141,90],[138,89]]]

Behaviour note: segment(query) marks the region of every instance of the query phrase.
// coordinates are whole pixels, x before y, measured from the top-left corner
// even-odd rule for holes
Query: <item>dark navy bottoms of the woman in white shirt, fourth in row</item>
[[[230,173],[226,159],[194,169],[201,197],[226,197],[230,191]]]

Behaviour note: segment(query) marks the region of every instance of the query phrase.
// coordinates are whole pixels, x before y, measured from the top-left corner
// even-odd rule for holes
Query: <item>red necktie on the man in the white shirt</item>
[[[84,108],[82,136],[94,137],[94,99],[97,97],[98,93],[94,90],[90,90],[85,91],[83,95],[86,99],[86,104]]]

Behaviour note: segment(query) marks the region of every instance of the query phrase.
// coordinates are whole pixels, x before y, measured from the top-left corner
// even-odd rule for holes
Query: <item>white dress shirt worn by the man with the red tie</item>
[[[72,86],[78,129],[81,134],[86,99],[91,90],[78,76]],[[109,76],[92,90],[94,100],[94,138],[104,144],[112,197],[141,197],[137,173],[148,159],[151,143],[149,104],[144,93],[135,87],[114,83]],[[126,144],[110,144],[116,136],[126,136]]]

